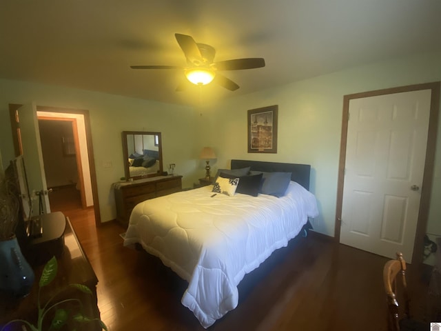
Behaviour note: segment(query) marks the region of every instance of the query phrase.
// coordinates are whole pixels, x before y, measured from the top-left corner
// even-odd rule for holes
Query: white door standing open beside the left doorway
[[[23,159],[32,197],[32,215],[39,214],[41,209],[39,196],[36,192],[43,192],[43,195],[41,195],[42,212],[48,213],[50,212],[48,185],[46,184],[43,154],[41,152],[37,108],[34,104],[26,104],[18,109],[18,113]]]

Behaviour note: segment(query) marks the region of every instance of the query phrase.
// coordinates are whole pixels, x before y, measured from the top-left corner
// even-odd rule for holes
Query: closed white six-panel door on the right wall
[[[411,261],[431,90],[351,99],[340,242]]]

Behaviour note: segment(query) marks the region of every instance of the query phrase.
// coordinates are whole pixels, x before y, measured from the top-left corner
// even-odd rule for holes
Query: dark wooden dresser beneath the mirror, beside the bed
[[[158,176],[114,183],[116,219],[128,225],[132,209],[138,203],[182,190],[182,176]]]

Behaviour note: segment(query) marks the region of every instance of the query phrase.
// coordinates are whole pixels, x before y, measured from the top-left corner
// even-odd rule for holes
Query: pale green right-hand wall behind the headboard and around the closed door
[[[311,164],[311,191],[316,194],[320,208],[314,228],[334,237],[343,96],[440,80],[441,52],[436,52],[374,63],[228,99],[203,113],[202,134],[209,137],[209,145],[218,155],[213,170],[227,167],[230,159]],[[271,105],[278,105],[278,152],[249,154],[247,110]],[[433,202],[441,198],[440,123],[436,146],[427,232],[441,236],[440,204]]]

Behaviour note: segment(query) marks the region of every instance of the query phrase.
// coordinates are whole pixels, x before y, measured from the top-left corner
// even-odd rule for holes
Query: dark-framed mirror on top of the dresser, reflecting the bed
[[[163,173],[161,132],[123,131],[126,179],[160,176]]]

